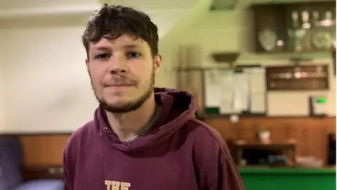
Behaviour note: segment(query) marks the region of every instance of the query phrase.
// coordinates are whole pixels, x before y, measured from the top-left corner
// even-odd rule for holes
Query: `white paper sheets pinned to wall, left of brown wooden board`
[[[205,106],[219,108],[220,114],[265,113],[265,70],[209,70],[205,72],[205,92]]]

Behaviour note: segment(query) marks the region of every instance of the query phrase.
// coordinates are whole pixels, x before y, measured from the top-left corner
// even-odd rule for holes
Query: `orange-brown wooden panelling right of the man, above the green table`
[[[324,162],[328,156],[328,135],[336,134],[336,118],[204,118],[223,139],[256,141],[260,130],[270,131],[272,141],[296,139],[295,156],[314,156]],[[249,189],[248,189],[249,190]]]

